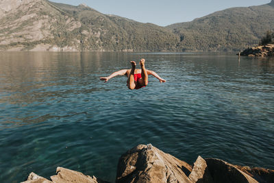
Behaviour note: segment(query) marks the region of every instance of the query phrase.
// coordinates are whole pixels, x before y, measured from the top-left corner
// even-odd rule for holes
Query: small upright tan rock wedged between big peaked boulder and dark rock
[[[198,156],[196,162],[194,163],[192,172],[190,173],[188,178],[190,178],[192,182],[213,183],[213,179],[210,175],[210,171],[208,170],[206,160],[203,160],[201,156]]]

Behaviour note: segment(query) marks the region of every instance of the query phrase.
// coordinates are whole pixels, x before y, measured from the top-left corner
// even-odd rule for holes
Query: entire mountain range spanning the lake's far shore
[[[10,51],[232,51],[258,44],[273,27],[274,0],[166,27],[84,4],[0,1],[0,50]]]

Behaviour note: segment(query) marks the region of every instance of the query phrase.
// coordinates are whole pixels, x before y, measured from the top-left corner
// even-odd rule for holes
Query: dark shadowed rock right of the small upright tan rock
[[[208,169],[213,178],[214,182],[242,182],[242,183],[257,183],[255,179],[247,175],[240,169],[234,167],[234,165],[229,164],[223,160],[207,158],[206,164],[208,164]]]

